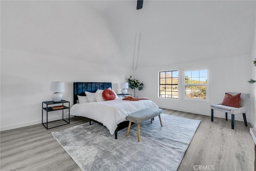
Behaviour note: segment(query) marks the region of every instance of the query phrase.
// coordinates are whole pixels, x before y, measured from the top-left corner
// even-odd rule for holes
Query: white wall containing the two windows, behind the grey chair
[[[136,90],[136,95],[149,97],[159,107],[210,115],[210,104],[221,103],[226,91],[250,93],[250,86],[247,81],[250,79],[250,56],[236,56],[222,59],[201,60],[187,63],[179,63],[165,66],[139,68],[135,70],[134,77],[143,82],[144,89]],[[179,86],[179,98],[169,99],[158,97],[158,75],[161,71],[178,70],[179,76],[184,70],[208,70],[208,101],[196,101],[182,99],[182,86]],[[182,77],[179,77],[179,85],[182,85]],[[219,111],[214,112],[216,117],[225,115]],[[229,116],[230,117],[230,116]],[[243,121],[242,115],[236,115],[236,120]],[[250,107],[247,119],[251,122]]]

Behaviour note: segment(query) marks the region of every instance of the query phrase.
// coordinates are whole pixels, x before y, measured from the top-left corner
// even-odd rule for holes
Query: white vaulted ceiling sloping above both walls
[[[1,1],[1,48],[137,68],[250,54],[256,1]]]

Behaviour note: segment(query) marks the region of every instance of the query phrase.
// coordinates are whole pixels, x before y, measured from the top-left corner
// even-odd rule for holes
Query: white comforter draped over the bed
[[[151,100],[127,101],[119,97],[110,101],[77,103],[70,108],[70,114],[99,121],[114,134],[118,123],[125,121],[127,115],[152,107],[158,106]]]

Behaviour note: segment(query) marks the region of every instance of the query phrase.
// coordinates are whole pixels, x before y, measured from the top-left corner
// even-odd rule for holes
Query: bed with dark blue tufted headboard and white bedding
[[[105,126],[110,134],[128,127],[126,116],[152,107],[158,107],[151,100],[126,101],[123,97],[110,101],[98,101],[92,103],[78,103],[78,95],[86,96],[85,91],[95,93],[98,89],[104,90],[112,88],[110,82],[74,82],[74,105],[70,108],[70,113],[75,116],[87,117],[91,121]]]

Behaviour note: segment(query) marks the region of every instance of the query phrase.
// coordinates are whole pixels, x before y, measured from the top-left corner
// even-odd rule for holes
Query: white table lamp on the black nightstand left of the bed
[[[64,82],[51,82],[50,91],[52,93],[52,101],[60,102],[62,100],[62,93],[64,92]]]

